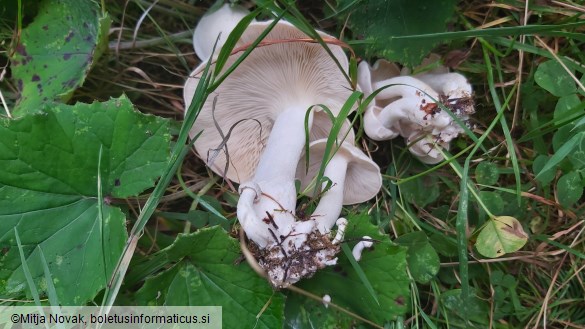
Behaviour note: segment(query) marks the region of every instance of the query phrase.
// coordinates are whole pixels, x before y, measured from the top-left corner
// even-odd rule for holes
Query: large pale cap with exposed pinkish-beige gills
[[[255,41],[270,23],[250,24],[236,47]],[[322,32],[320,35],[332,38]],[[195,148],[199,157],[219,175],[224,175],[227,159],[225,152],[215,151],[223,141],[216,124],[224,136],[231,130],[225,143],[229,154],[225,177],[244,182],[253,177],[279,113],[292,107],[306,111],[311,105],[323,104],[337,115],[351,95],[349,82],[321,45],[306,41],[282,42],[299,38],[309,37],[288,22],[278,22],[264,39],[270,44],[254,49],[207,98],[191,129],[191,137],[203,130],[195,142]],[[331,44],[328,47],[347,72],[349,64],[342,48]],[[241,54],[231,55],[224,70]],[[214,64],[211,66],[213,69]],[[185,83],[183,96],[186,108],[191,103],[204,67],[205,63],[195,69]],[[214,122],[212,107],[215,98]],[[313,109],[317,113],[320,107]],[[315,129],[313,124],[310,139],[326,137],[322,136],[324,130]]]

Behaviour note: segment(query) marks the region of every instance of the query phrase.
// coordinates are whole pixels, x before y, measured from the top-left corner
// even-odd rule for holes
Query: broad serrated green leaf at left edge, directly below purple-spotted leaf
[[[125,96],[56,104],[1,124],[0,183],[25,190],[97,196],[103,145],[104,195],[133,196],[153,185],[168,159],[167,122],[135,112]]]

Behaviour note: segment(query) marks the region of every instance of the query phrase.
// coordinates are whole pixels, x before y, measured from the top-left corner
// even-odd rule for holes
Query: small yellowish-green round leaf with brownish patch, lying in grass
[[[483,256],[495,258],[519,250],[527,240],[528,235],[516,218],[499,216],[490,219],[479,232],[475,247]]]

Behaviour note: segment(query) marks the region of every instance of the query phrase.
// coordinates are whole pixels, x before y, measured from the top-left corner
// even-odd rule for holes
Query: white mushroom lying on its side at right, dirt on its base
[[[368,137],[403,136],[410,152],[428,164],[443,159],[440,149],[449,148],[451,140],[464,131],[461,124],[474,112],[471,85],[462,75],[443,69],[406,76],[383,60],[373,67],[362,62],[358,84],[366,95],[380,89],[364,114]]]

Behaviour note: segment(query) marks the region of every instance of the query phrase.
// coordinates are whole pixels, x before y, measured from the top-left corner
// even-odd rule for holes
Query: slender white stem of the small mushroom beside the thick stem
[[[333,155],[327,167],[325,167],[324,175],[331,181],[331,186],[325,190],[329,182],[322,184],[322,189],[325,191],[319,200],[317,208],[313,212],[317,228],[321,234],[327,234],[339,218],[341,208],[343,205],[343,191],[345,184],[345,175],[347,173],[347,159],[341,153]]]

